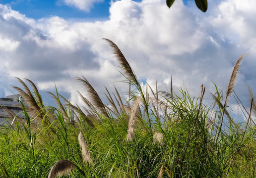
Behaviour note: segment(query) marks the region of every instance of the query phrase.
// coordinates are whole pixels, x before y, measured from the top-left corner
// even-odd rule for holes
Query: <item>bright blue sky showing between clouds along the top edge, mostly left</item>
[[[133,0],[141,1],[141,0]],[[183,0],[187,5],[188,1]],[[0,0],[1,4],[8,4],[13,10],[25,14],[29,18],[40,19],[50,16],[59,16],[64,19],[91,19],[105,20],[109,18],[111,0],[94,3],[90,12],[79,10],[76,7],[65,5],[61,0]]]

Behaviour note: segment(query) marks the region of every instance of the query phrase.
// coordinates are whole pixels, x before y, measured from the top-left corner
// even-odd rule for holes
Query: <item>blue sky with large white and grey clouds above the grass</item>
[[[213,82],[225,91],[246,53],[235,91],[248,106],[247,86],[256,92],[255,17],[256,0],[208,0],[206,13],[191,0],[170,9],[165,0],[0,0],[0,97],[15,92],[15,77],[32,80],[45,98],[56,84],[74,102],[82,75],[102,96],[103,86],[127,91],[113,84],[123,78],[107,38],[141,83],[169,89],[172,75],[194,96],[204,84],[208,101]]]

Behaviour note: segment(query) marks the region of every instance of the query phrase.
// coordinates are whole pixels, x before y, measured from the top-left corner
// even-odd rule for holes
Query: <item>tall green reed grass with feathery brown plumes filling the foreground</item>
[[[187,89],[173,93],[172,82],[169,92],[149,85],[144,91],[118,46],[105,40],[123,71],[126,95],[106,89],[105,105],[81,77],[77,80],[87,91],[86,97],[79,92],[84,106],[71,104],[56,89],[49,94],[58,107],[46,107],[36,86],[18,79],[23,89],[13,88],[24,99],[24,118],[5,108],[11,125],[0,129],[1,178],[256,177],[252,91],[247,122],[235,123],[227,110],[243,56],[225,99],[216,87],[214,103],[206,106],[203,86],[198,98]]]

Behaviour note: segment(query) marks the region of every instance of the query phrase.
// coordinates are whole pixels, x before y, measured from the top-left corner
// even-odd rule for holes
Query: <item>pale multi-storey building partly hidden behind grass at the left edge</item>
[[[10,124],[12,121],[9,119],[8,114],[5,112],[4,107],[7,107],[12,112],[14,112],[17,116],[23,116],[23,110],[20,109],[20,102],[18,100],[22,100],[19,94],[13,94],[6,96],[5,98],[0,98],[0,126],[4,124]]]

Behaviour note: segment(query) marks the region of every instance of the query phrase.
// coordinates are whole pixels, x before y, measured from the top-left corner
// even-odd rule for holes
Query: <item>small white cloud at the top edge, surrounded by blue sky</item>
[[[68,6],[73,6],[85,12],[90,12],[94,3],[102,2],[104,0],[62,0],[64,4]]]

